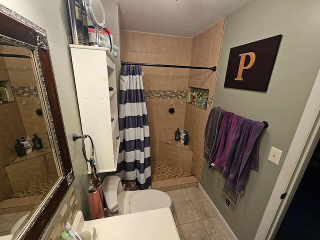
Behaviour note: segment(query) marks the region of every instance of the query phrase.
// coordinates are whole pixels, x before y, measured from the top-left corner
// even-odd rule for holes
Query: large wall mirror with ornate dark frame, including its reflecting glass
[[[2,213],[23,214],[25,220],[19,218],[22,224],[15,224],[14,231],[8,229],[9,234],[13,239],[38,239],[74,174],[46,32],[2,4],[0,22],[0,178],[5,181],[0,204],[14,198],[24,203],[23,209],[20,204],[13,212],[3,210],[5,204],[1,204],[0,217]],[[43,147],[18,157],[16,139],[34,133]]]

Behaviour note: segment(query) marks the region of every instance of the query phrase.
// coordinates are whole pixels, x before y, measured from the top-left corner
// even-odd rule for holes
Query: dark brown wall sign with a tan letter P
[[[282,35],[232,47],[224,87],[266,91]]]

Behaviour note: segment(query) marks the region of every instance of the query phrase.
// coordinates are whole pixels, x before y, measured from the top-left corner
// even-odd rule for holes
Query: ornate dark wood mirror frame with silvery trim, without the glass
[[[62,176],[24,226],[17,239],[39,239],[70,187],[74,174],[67,146],[45,29],[0,4],[0,40],[32,51]]]

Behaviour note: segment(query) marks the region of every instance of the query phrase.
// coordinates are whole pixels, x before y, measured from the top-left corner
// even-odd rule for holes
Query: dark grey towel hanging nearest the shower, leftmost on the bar
[[[203,157],[208,160],[212,157],[216,138],[222,121],[223,109],[212,107],[204,131],[204,153]]]

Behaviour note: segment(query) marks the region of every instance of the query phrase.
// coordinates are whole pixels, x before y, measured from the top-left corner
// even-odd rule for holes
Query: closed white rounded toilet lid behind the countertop
[[[130,198],[130,212],[140,212],[171,206],[170,196],[160,190],[147,189],[133,193]]]

